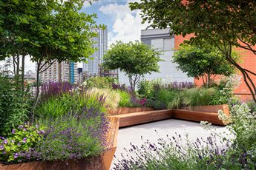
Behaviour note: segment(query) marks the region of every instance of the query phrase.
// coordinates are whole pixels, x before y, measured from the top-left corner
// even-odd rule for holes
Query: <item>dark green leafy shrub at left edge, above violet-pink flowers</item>
[[[30,93],[16,88],[12,79],[0,75],[0,135],[24,123],[29,115]]]

